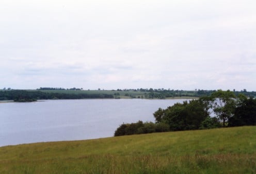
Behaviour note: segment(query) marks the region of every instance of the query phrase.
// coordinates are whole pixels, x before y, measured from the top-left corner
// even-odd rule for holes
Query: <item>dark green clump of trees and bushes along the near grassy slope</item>
[[[211,117],[212,114],[215,117]],[[198,100],[159,108],[153,115],[155,123],[123,123],[116,129],[115,136],[256,125],[256,99],[218,90]]]

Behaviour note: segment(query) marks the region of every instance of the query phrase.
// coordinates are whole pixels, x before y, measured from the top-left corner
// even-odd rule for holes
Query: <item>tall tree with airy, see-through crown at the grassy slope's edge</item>
[[[226,121],[234,114],[236,106],[236,96],[234,92],[230,90],[217,90],[213,92],[211,94],[211,104],[217,118],[222,121],[223,127],[225,127]]]

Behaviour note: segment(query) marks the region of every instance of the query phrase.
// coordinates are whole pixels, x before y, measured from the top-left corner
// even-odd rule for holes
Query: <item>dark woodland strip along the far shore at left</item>
[[[88,94],[88,93],[51,93],[42,91],[29,91],[29,90],[3,90],[0,91],[0,100],[13,100],[13,101],[35,101],[47,99],[104,99],[114,98],[111,94]]]

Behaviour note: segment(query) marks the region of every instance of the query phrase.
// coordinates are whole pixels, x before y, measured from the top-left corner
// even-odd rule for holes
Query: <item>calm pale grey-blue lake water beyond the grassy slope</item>
[[[0,146],[113,137],[122,123],[154,122],[153,113],[185,100],[93,99],[0,102]]]

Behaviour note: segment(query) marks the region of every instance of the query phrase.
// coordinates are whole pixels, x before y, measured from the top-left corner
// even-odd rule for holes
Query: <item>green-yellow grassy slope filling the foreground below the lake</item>
[[[256,126],[5,146],[0,173],[256,173]]]

